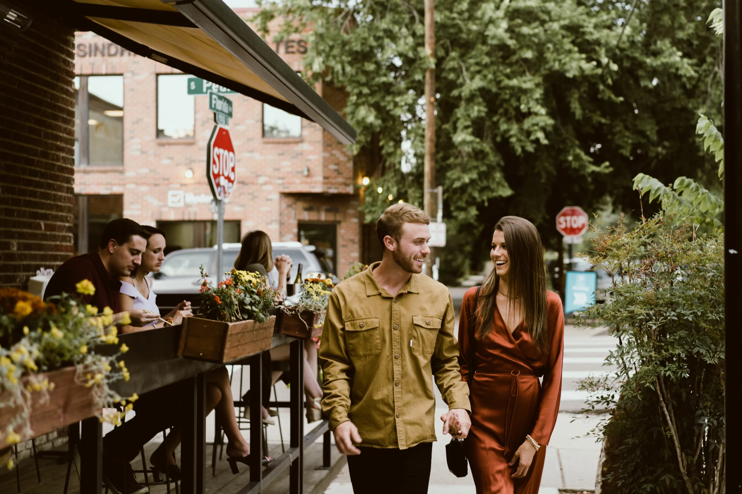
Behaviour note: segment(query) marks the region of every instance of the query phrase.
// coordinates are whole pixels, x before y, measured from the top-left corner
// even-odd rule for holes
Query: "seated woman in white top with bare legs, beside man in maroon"
[[[165,259],[163,250],[165,249],[165,233],[154,227],[142,225],[152,235],[147,240],[147,250],[142,253],[142,264],[137,267],[130,277],[121,279],[121,288],[119,291],[119,305],[121,310],[131,309],[148,309],[159,314],[155,304],[155,294],[151,290],[152,281],[147,276],[148,273],[157,273],[160,271],[160,265]],[[173,324],[180,324],[183,317],[192,316],[191,302],[182,301],[167,316],[172,318]],[[159,321],[157,324],[151,324],[145,327],[122,327],[122,333],[131,333],[133,331],[151,330],[154,327],[162,327],[164,322]],[[224,433],[229,438],[227,445],[227,456],[232,461],[246,461],[247,455],[250,454],[250,445],[239,427],[237,427],[237,418],[234,416],[234,406],[232,398],[232,387],[229,385],[229,373],[226,367],[210,370],[206,373],[206,415],[211,410],[216,409],[219,421],[224,427]],[[174,451],[180,444],[180,427],[174,427],[168,434],[165,441],[160,447],[152,453],[149,458],[153,467],[162,473],[167,473],[169,478],[180,480],[180,469],[175,464]]]

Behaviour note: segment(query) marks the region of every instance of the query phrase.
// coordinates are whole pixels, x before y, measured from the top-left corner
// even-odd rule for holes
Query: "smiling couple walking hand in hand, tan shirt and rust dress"
[[[447,288],[423,276],[430,218],[395,204],[378,219],[381,262],[332,290],[319,358],[322,408],[353,490],[427,493],[436,413],[465,439],[478,494],[536,494],[559,411],[564,316],[530,221],[494,229],[493,270],[464,294],[459,340]],[[542,378],[542,381],[539,381]]]

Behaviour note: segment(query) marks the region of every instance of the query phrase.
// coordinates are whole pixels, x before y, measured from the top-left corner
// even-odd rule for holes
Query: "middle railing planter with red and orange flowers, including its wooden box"
[[[210,362],[229,362],[271,347],[275,292],[258,273],[232,269],[214,287],[201,267],[200,313],[183,319],[178,354]]]

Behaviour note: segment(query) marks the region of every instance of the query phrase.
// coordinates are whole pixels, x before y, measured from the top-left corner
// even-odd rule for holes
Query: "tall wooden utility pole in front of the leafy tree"
[[[433,63],[436,56],[436,3],[425,0],[425,54]],[[425,70],[425,161],[423,172],[423,208],[430,218],[436,218],[436,69]],[[433,276],[435,253],[425,262],[425,274]]]

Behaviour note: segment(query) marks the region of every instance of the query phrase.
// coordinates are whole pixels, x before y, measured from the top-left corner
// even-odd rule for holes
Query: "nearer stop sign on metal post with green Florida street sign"
[[[232,100],[217,93],[209,93],[209,110],[214,112],[217,124],[211,130],[209,144],[206,145],[206,178],[217,209],[217,283],[220,283],[224,276],[224,203],[229,201],[237,181],[237,159],[227,127],[229,117],[232,116]]]

